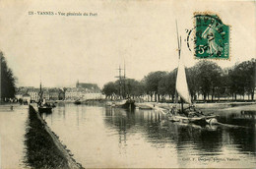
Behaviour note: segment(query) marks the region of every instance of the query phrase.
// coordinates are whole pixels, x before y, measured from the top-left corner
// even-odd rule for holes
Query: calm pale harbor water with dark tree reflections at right
[[[242,116],[229,114],[220,120]],[[43,115],[74,158],[94,168],[255,167],[255,115],[249,117],[243,127],[202,127],[168,122],[154,110],[64,103]]]

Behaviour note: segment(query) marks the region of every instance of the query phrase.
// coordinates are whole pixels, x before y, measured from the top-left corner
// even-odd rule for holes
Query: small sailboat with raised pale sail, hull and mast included
[[[173,106],[170,112],[168,119],[173,122],[183,122],[183,123],[195,123],[195,124],[216,124],[217,119],[216,115],[205,115],[202,112],[199,112],[195,109],[195,106],[192,104],[191,96],[189,94],[185,65],[183,63],[183,58],[181,55],[181,37],[178,36],[177,30],[177,40],[178,40],[178,70],[176,78],[176,93],[180,97],[181,106],[178,110],[176,106]],[[176,97],[176,103],[177,101]],[[183,104],[188,103],[189,107],[184,109]]]

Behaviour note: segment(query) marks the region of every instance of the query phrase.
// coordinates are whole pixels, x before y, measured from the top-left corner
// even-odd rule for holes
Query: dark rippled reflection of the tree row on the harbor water
[[[244,112],[240,115],[229,114],[228,116],[220,116],[220,119],[226,119],[229,124],[248,125],[249,123],[241,123],[235,121],[244,120]],[[223,126],[197,126],[193,124],[171,123],[164,120],[164,115],[153,110],[129,112],[124,109],[106,108],[105,123],[108,126],[114,125],[120,135],[123,135],[126,141],[126,135],[129,129],[136,127],[136,132],[146,134],[146,140],[153,142],[154,146],[164,148],[166,142],[174,143],[180,165],[184,164],[184,157],[189,155],[196,156],[221,156],[217,159],[226,159],[226,157],[236,157],[240,160],[239,154],[256,155],[255,149],[255,128],[230,128]],[[254,115],[245,114],[252,124],[255,123]],[[252,118],[252,119],[251,119]],[[244,122],[244,121],[243,121]],[[251,126],[251,123],[249,124]],[[224,147],[231,148],[230,151],[236,154],[228,154],[224,152]],[[154,152],[153,152],[154,153]],[[189,160],[190,161],[190,160]],[[226,161],[226,160],[225,160]],[[220,162],[220,161],[219,161]],[[255,160],[252,160],[255,162]]]

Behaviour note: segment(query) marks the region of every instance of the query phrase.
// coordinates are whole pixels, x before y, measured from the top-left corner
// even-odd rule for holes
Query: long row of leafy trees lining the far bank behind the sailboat
[[[107,97],[122,95],[123,97],[136,97],[149,95],[151,100],[174,100],[177,69],[171,72],[152,72],[142,81],[133,79],[117,80],[103,86],[102,91]],[[256,84],[256,60],[245,61],[231,68],[222,69],[212,61],[200,61],[193,67],[186,69],[189,91],[193,100],[203,95],[204,100],[216,100],[231,97],[236,100],[237,95],[247,94],[254,100]],[[123,81],[120,83],[120,81]],[[124,84],[124,86],[120,86]],[[120,93],[120,88],[126,88]]]

